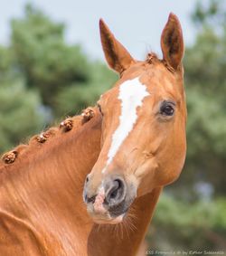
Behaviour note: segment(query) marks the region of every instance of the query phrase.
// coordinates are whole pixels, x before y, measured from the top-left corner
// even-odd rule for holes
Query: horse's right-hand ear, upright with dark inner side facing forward
[[[164,60],[177,70],[184,55],[184,41],[181,24],[174,14],[169,14],[167,24],[161,36],[161,48]]]

